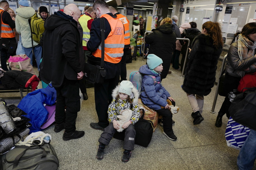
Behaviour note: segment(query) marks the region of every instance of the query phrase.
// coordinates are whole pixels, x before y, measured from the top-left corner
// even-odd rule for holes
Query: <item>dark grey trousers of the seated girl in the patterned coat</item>
[[[110,123],[100,135],[99,142],[104,145],[109,145],[113,135],[116,133],[116,129],[113,126],[113,123]],[[125,150],[134,150],[136,131],[134,130],[134,125],[130,124],[128,128],[125,129],[125,139],[123,149]]]

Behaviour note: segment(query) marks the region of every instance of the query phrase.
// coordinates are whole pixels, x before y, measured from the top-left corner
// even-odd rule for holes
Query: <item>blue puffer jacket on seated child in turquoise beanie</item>
[[[159,110],[161,106],[165,107],[167,104],[166,99],[171,96],[168,91],[162,86],[162,84],[155,83],[151,76],[156,77],[157,82],[161,82],[160,74],[153,73],[147,65],[142,65],[139,72],[146,74],[143,76],[141,83],[140,98],[144,105],[151,109]]]

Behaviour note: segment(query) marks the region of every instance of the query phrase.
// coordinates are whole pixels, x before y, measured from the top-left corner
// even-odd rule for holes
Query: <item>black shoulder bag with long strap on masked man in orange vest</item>
[[[104,70],[104,48],[105,48],[105,19],[100,18],[100,30],[101,30],[101,60],[100,66],[85,63],[84,65],[84,79],[91,83],[103,83],[106,76]]]

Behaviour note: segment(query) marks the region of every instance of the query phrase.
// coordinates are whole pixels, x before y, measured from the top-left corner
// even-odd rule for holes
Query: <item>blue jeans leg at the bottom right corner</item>
[[[239,170],[251,170],[256,159],[256,131],[252,130],[237,157]]]

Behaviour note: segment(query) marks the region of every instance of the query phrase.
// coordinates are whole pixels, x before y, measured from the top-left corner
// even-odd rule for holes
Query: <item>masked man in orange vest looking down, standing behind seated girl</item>
[[[109,125],[107,120],[108,106],[112,101],[112,90],[119,82],[121,58],[125,46],[124,26],[121,20],[116,18],[110,11],[108,4],[103,0],[96,0],[93,11],[98,17],[91,24],[90,39],[87,48],[92,52],[88,62],[100,65],[101,61],[101,29],[100,18],[105,22],[105,49],[104,69],[106,71],[103,83],[94,84],[95,107],[98,115],[98,123],[91,123],[94,129],[104,130]]]

